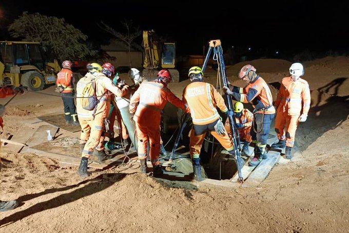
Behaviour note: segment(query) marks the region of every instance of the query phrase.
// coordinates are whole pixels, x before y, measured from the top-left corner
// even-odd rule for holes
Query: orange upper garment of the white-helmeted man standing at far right
[[[296,81],[292,77],[284,77],[280,86],[278,97],[274,103],[278,112],[287,112],[288,115],[308,114],[311,104],[311,96],[308,83],[299,78]]]

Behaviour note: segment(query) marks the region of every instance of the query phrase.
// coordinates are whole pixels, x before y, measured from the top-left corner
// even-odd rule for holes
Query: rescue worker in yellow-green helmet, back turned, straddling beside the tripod
[[[232,112],[228,111],[224,99],[215,87],[202,81],[204,74],[200,67],[191,67],[188,76],[191,83],[183,90],[183,101],[188,104],[192,118],[189,142],[190,157],[193,163],[195,179],[202,181],[200,151],[207,131],[229,152],[230,158],[234,159],[234,145],[224,128],[216,107],[219,107],[226,114],[232,115]],[[239,162],[243,163],[244,161]]]

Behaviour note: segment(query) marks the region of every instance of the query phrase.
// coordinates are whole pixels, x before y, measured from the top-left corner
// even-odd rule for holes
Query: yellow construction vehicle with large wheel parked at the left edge
[[[61,67],[47,54],[39,42],[0,41],[0,86],[23,85],[40,91],[55,83]]]

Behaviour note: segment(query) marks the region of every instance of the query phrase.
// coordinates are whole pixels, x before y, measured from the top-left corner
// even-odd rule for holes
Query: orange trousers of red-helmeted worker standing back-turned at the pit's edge
[[[147,144],[149,142],[149,157],[153,166],[160,163],[160,127],[159,124],[149,125],[135,123],[135,129],[138,137],[138,158],[147,158]]]

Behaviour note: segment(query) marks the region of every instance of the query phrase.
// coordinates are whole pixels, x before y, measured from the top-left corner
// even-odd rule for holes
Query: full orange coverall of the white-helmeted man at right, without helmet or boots
[[[275,131],[279,140],[285,140],[286,136],[286,146],[294,146],[299,116],[308,114],[310,103],[309,85],[305,80],[299,78],[293,81],[291,76],[282,79],[279,94],[274,103],[277,108]]]

